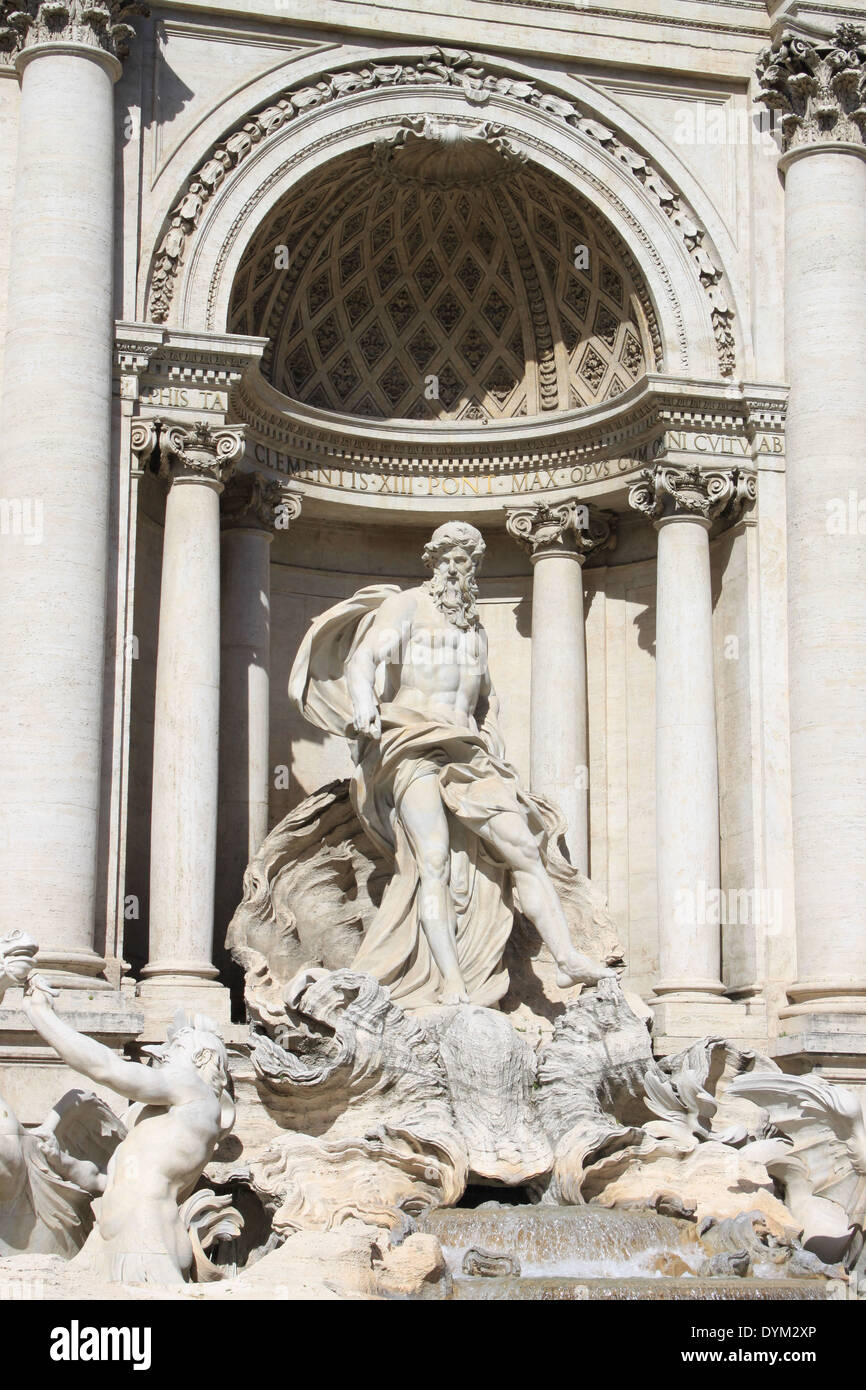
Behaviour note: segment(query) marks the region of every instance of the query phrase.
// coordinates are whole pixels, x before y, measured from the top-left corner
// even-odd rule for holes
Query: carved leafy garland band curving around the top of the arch
[[[411,64],[370,64],[354,71],[328,74],[313,86],[288,88],[272,106],[259,111],[250,121],[221,140],[192,177],[183,197],[171,213],[168,232],[154,260],[149,303],[150,318],[154,322],[164,322],[168,318],[186,240],[197,228],[204,204],[210,202],[227,175],[243,163],[253,146],[313,107],[359,92],[399,86],[460,88],[466,99],[475,106],[496,96],[524,101],[596,140],[609,154],[624,164],[628,172],[656,199],[662,211],[680,232],[701,285],[710,300],[710,317],[721,375],[733,375],[735,366],[734,314],[721,288],[721,270],[705,249],[705,232],[692,218],[691,210],[687,210],[684,200],[664,183],[649,160],[617,139],[609,126],[581,115],[573,101],[544,90],[537,82],[496,75],[477,63],[470,53],[452,53],[442,49],[432,49]]]

